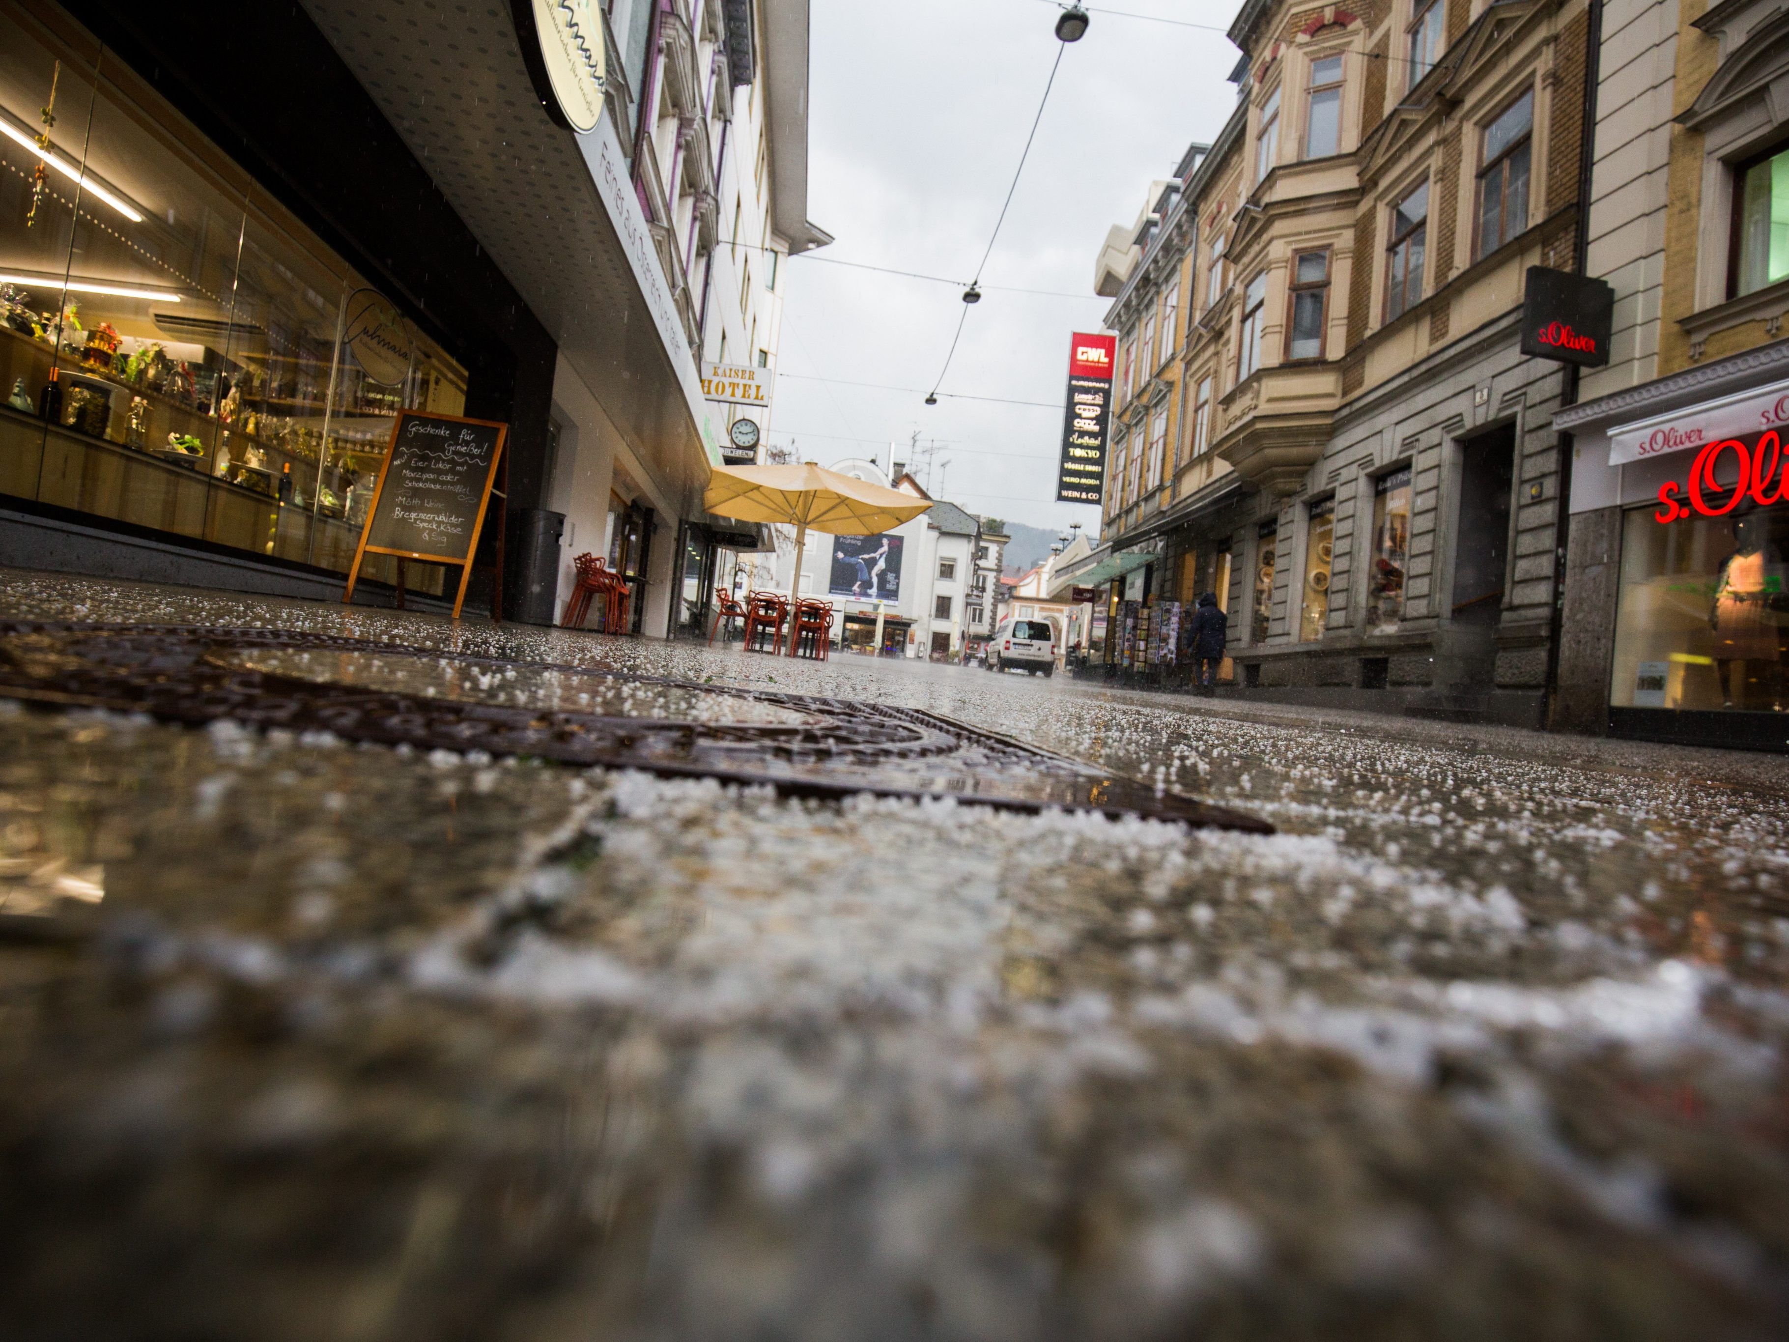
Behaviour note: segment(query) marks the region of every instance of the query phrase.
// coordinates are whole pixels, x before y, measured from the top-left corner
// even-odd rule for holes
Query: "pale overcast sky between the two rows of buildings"
[[[1113,4],[1220,27],[1236,11],[1234,0]],[[812,0],[807,213],[837,238],[816,258],[975,274],[1056,59],[1057,13],[1045,0]],[[1131,224],[1149,183],[1218,132],[1234,64],[1220,32],[1095,9],[1063,55],[943,392],[1063,404],[1070,333],[1102,329],[1109,306],[1093,295],[1106,229]],[[1054,501],[1059,410],[923,404],[961,315],[955,286],[793,259],[769,440],[793,438],[823,465],[886,463],[886,446],[920,429],[945,444],[934,494],[979,515],[1097,531],[1097,508]]]

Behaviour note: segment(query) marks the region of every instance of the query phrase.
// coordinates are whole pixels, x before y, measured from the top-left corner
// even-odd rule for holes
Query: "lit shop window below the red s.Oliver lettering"
[[[1789,508],[1623,522],[1610,703],[1789,712]]]

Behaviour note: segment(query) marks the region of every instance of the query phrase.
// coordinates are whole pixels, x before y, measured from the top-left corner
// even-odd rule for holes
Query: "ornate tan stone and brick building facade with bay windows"
[[[1236,111],[1109,319],[1141,352],[1150,295],[1184,295],[1172,376],[1120,354],[1107,535],[1157,551],[1154,594],[1220,594],[1240,691],[1540,721],[1567,378],[1519,317],[1528,267],[1576,263],[1589,23],[1251,0],[1231,25]]]

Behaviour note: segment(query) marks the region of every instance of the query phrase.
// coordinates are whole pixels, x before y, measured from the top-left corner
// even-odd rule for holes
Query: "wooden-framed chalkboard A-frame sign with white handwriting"
[[[478,533],[485,528],[490,496],[508,496],[510,462],[504,456],[508,424],[490,419],[460,419],[403,410],[392,426],[392,442],[379,463],[379,483],[372,490],[367,524],[360,530],[354,567],[347,574],[343,601],[354,599],[360,564],[367,555],[392,555],[397,560],[397,607],[404,607],[404,565],[410,560],[449,564],[460,569],[460,592],[453,617],[460,619],[465,587],[472,578]],[[494,488],[503,467],[504,488]],[[497,582],[490,598],[490,617],[503,619],[503,515],[497,506]]]

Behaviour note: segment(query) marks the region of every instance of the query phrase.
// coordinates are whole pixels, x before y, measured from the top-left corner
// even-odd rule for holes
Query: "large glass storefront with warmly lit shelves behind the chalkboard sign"
[[[0,496],[345,573],[465,370],[61,11],[0,4]]]

